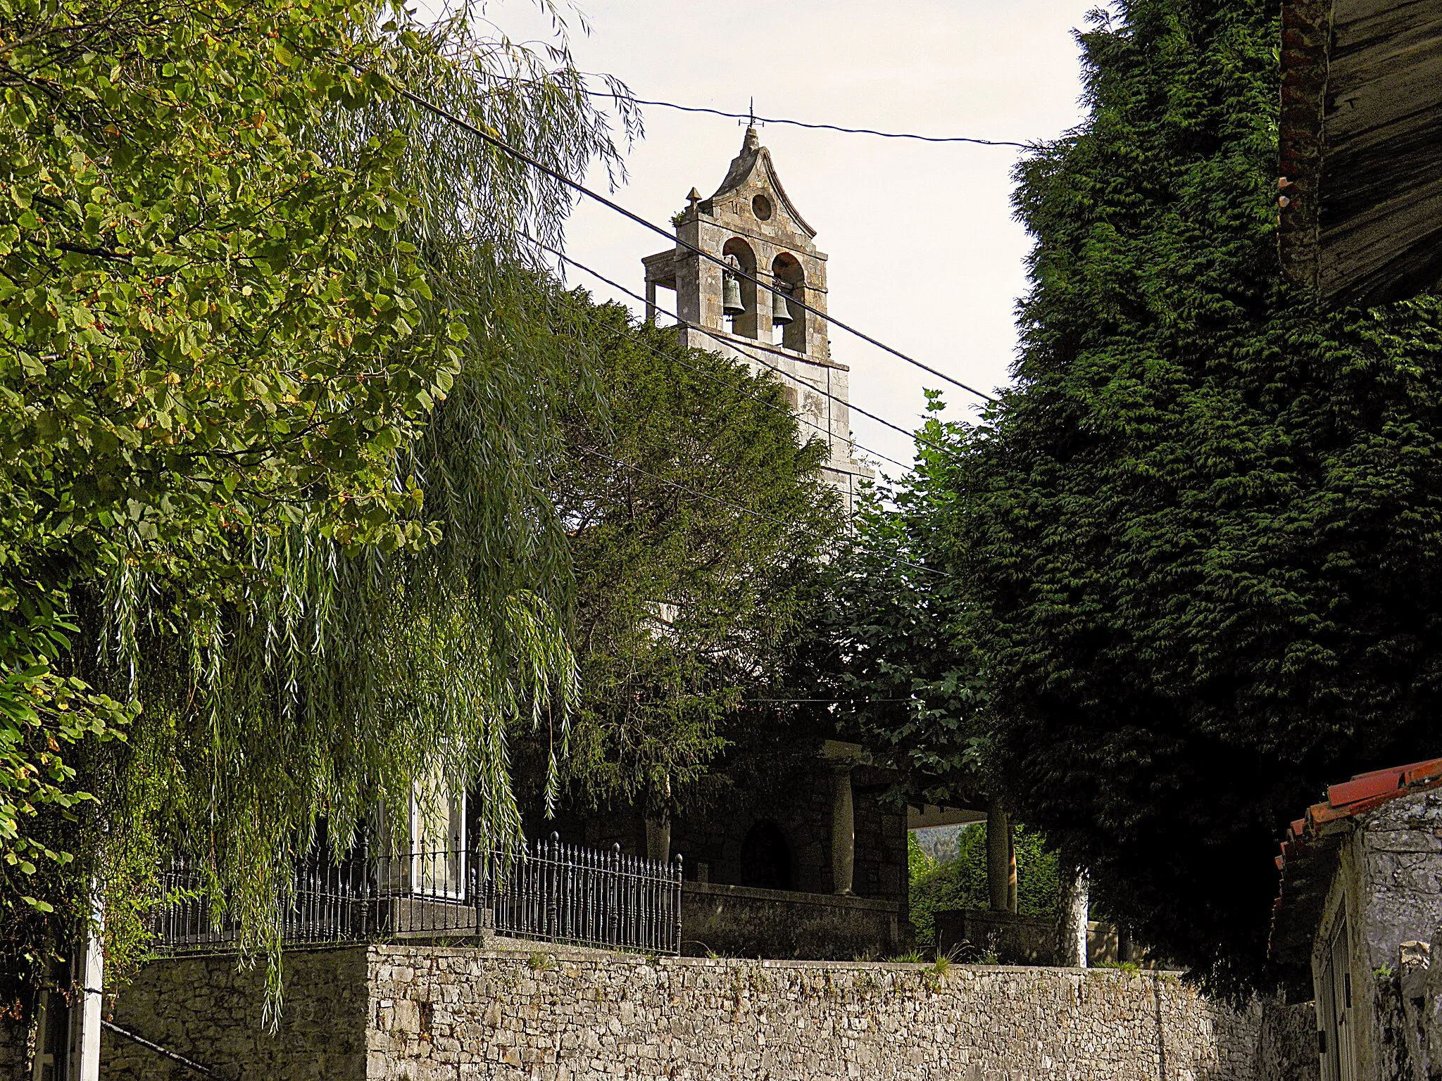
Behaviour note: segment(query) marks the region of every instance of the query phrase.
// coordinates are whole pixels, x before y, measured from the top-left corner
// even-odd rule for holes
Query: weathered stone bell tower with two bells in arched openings
[[[647,255],[642,259],[647,321],[656,319],[656,288],[673,290],[685,344],[770,372],[802,419],[802,438],[828,441],[823,476],[851,510],[859,481],[875,473],[852,457],[849,369],[832,362],[825,320],[796,304],[826,311],[826,255],[782,187],[754,127],[746,130],[741,153],[715,193],[702,199],[691,189],[686,209],[673,221],[678,241],[740,274],[684,244]]]

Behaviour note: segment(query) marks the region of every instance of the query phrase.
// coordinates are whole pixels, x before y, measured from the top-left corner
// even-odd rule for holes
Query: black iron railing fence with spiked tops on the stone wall
[[[174,860],[153,914],[162,953],[241,944],[238,922],[218,911],[205,878]],[[681,856],[672,862],[565,845],[557,835],[515,855],[423,849],[339,863],[317,852],[296,869],[280,911],[287,944],[453,938],[485,933],[643,953],[681,953]]]

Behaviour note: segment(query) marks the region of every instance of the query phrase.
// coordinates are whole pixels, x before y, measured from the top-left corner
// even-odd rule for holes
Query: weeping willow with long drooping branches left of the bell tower
[[[198,10],[176,4],[136,33],[160,33],[167,17],[209,17]],[[143,706],[123,754],[84,762],[81,783],[99,796],[85,819],[98,856],[75,866],[107,881],[107,931],[123,956],[143,938],[154,859],[187,853],[216,911],[239,921],[245,954],[268,957],[271,1010],[296,859],[320,839],[339,856],[366,823],[404,822],[412,784],[437,774],[472,793],[487,842],[513,843],[508,734],[547,718],[564,745],[577,695],[570,565],[539,463],[555,457],[554,396],[562,386],[577,393],[568,369],[584,365],[585,346],[549,319],[552,290],[515,239],[525,231],[559,244],[571,196],[389,94],[385,78],[425,88],[577,179],[593,161],[620,176],[616,133],[564,49],[542,56],[482,36],[466,14],[434,27],[384,17],[348,30],[376,79],[352,86],[337,63],[343,108],[278,137],[262,110],[245,123],[293,140],[297,161],[310,154],[317,169],[360,179],[365,246],[337,249],[355,261],[345,277],[317,265],[301,290],[360,313],[327,342],[324,378],[345,370],[348,350],[359,353],[368,321],[388,327],[405,363],[382,353],[373,373],[348,372],[335,392],[327,382],[329,412],[313,421],[306,395],[317,369],[287,339],[290,316],[277,304],[268,326],[251,329],[260,360],[242,376],[273,379],[267,402],[293,419],[274,422],[268,442],[238,434],[224,458],[156,458],[166,483],[208,516],[193,535],[157,535],[143,507],[134,520],[104,519],[89,562],[66,564],[71,604],[94,643],[75,669]],[[300,50],[286,26],[264,43],[283,76],[286,50]],[[316,81],[313,71],[304,78]],[[622,117],[620,135],[639,134],[634,114]],[[404,205],[363,187],[375,174],[386,192],[408,193]],[[297,202],[294,213],[304,212]],[[268,258],[274,272],[284,245]],[[225,287],[241,295],[254,265],[236,261]],[[385,307],[392,295],[415,298],[399,323]],[[316,324],[320,336],[326,326]],[[372,386],[410,419],[372,425]],[[236,418],[238,432],[247,422]],[[346,425],[358,432],[349,442],[304,450]],[[365,486],[330,484],[336,471]],[[352,490],[366,502],[348,503]],[[170,506],[170,496],[157,499]]]

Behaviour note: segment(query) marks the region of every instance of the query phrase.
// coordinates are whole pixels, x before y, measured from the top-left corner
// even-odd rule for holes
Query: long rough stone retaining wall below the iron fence
[[[353,947],[287,954],[274,1036],[261,992],[234,958],[160,961],[115,1020],[228,1080],[1301,1077],[1276,1071],[1288,1055],[1275,1033],[1268,1049],[1260,1005],[1236,1012],[1174,976],[1119,970]],[[172,1067],[107,1033],[102,1077]]]

